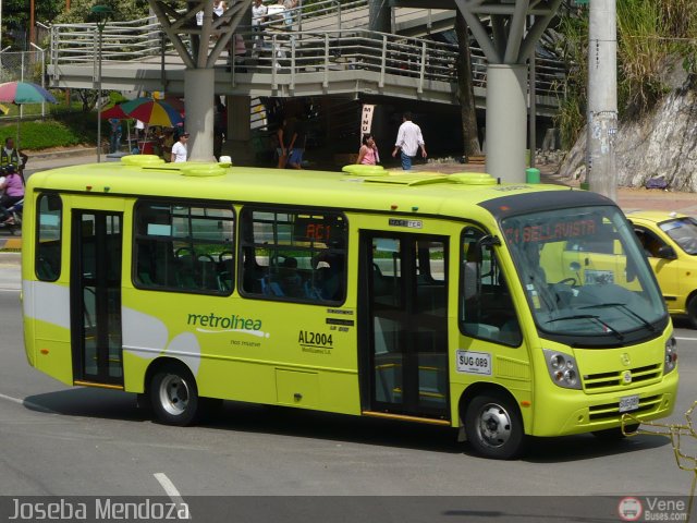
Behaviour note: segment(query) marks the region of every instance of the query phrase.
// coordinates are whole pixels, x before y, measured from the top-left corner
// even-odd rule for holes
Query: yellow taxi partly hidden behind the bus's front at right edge
[[[627,212],[656,272],[668,311],[697,329],[697,219],[669,211]]]

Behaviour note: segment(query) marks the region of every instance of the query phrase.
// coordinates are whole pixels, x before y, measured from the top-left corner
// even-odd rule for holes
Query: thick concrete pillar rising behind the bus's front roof
[[[486,171],[504,182],[525,182],[527,66],[487,68]]]

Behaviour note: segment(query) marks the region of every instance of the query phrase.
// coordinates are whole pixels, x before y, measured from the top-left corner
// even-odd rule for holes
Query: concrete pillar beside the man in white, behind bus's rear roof
[[[187,69],[184,72],[186,131],[191,133],[188,160],[215,161],[213,96],[216,72],[212,69]]]

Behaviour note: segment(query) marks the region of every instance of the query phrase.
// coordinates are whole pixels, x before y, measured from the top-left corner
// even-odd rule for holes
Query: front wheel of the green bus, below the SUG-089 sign
[[[465,433],[477,453],[494,460],[514,459],[525,447],[521,413],[506,394],[497,390],[469,402],[465,411]]]

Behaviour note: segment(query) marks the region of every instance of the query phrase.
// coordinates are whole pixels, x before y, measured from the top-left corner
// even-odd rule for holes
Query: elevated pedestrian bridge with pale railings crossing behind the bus
[[[366,0],[355,3],[367,10]],[[406,14],[418,17],[415,11],[430,10],[411,10]],[[396,20],[396,25],[409,23],[406,14]],[[327,17],[332,24],[322,23],[321,16],[307,17],[302,23],[296,19],[292,26],[295,31],[274,21],[261,33],[239,27],[231,49],[222,52],[213,65],[216,94],[253,98],[383,96],[460,104],[456,45],[368,31],[364,28],[365,21],[360,27],[363,19],[346,7],[339,23],[337,14]],[[53,87],[95,88],[101,62],[103,89],[184,94],[184,63],[166,41],[157,17],[108,23],[101,46],[94,24],[57,24],[50,31],[48,75]],[[484,108],[487,63],[479,48],[470,50],[475,102]],[[558,112],[564,70],[558,61],[537,58],[539,115]]]

